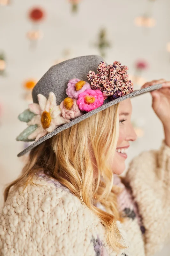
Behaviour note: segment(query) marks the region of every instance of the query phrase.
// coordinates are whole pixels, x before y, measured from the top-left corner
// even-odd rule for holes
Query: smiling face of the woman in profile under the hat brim
[[[130,99],[123,100],[119,106],[119,139],[115,155],[113,157],[113,170],[116,174],[121,174],[125,170],[125,160],[129,141],[137,139],[135,130],[131,124],[132,105]]]

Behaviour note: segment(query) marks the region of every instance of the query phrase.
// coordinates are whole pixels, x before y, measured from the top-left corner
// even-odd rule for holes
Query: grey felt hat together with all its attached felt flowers
[[[18,116],[28,127],[17,140],[35,140],[18,156],[128,95],[133,96],[127,70],[118,61],[107,65],[98,55],[52,66],[33,88],[33,103]]]

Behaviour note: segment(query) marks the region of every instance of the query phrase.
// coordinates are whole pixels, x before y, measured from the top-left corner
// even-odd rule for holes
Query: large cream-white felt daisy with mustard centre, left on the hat
[[[61,116],[60,106],[56,105],[53,92],[49,93],[48,100],[42,94],[38,94],[38,102],[29,104],[29,110],[35,114],[28,125],[37,124],[38,128],[28,136],[29,140],[39,140],[48,132],[53,132],[59,125],[69,123],[70,120]]]

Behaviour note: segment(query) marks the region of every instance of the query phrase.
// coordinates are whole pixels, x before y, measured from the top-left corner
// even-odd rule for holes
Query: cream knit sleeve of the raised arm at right
[[[145,227],[146,256],[159,251],[170,235],[170,148],[135,157],[126,174]]]

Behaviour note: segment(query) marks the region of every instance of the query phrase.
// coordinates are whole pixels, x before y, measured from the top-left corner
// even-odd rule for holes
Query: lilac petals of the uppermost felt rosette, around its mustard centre
[[[76,84],[80,81],[78,78],[71,79],[67,85],[66,93],[68,97],[72,99],[78,99],[78,95],[82,92],[85,92],[85,90],[91,89],[90,84],[87,82],[83,85],[83,87],[80,90],[76,90]]]

